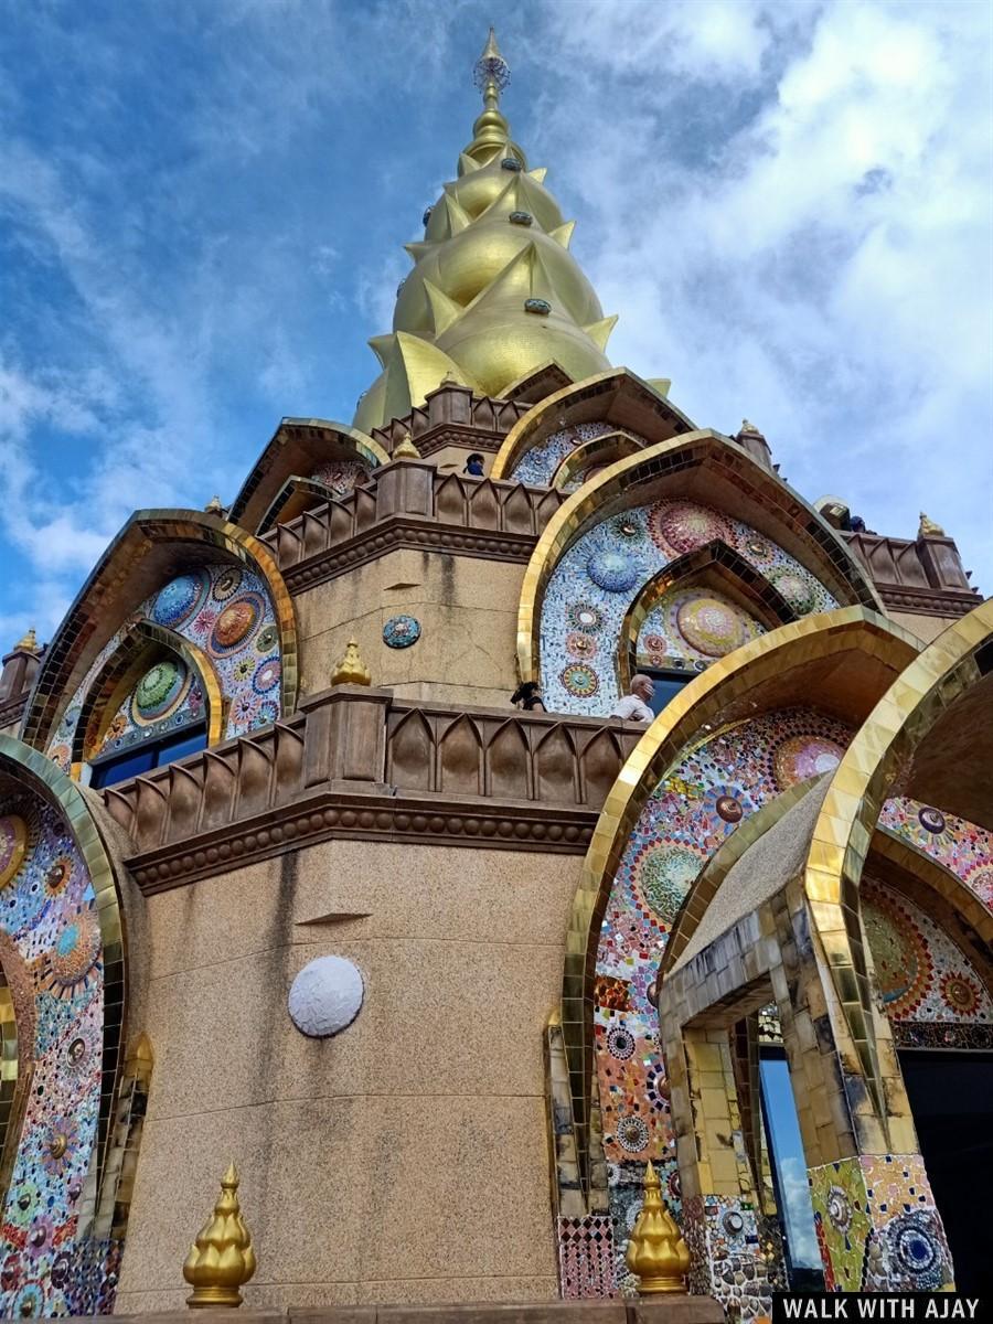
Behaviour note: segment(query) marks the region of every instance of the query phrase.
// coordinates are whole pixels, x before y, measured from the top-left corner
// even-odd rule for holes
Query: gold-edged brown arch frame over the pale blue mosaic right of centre
[[[719,433],[700,430],[659,442],[610,465],[573,493],[548,522],[531,556],[520,592],[518,667],[522,679],[540,678],[544,600],[567,553],[612,516],[620,519],[624,511],[649,507],[659,498],[699,500],[707,507],[718,507],[711,516],[714,522],[727,523],[733,518],[745,531],[753,531],[759,543],[768,539],[775,555],[785,553],[786,564],[776,573],[810,576],[829,602],[858,602],[882,610],[858,561],[802,498],[736,442]],[[645,536],[643,531],[632,530],[634,536],[639,532]],[[756,564],[768,555],[760,548]],[[630,587],[636,583],[637,576]],[[618,597],[626,601],[620,591]]]

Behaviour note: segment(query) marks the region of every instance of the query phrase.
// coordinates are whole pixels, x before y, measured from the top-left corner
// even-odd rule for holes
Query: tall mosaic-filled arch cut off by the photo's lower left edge
[[[130,1004],[119,883],[79,786],[37,749],[0,735],[5,1316],[113,1305],[117,1279],[91,1211]]]

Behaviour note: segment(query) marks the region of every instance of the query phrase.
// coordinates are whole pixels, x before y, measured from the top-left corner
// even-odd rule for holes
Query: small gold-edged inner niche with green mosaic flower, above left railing
[[[102,772],[128,753],[156,745],[156,763],[187,752],[203,730],[204,745],[217,744],[228,726],[230,698],[217,671],[196,643],[156,625],[136,621],[97,670],[79,707],[71,743],[71,769],[85,764],[109,785]],[[172,752],[172,751],[177,752]],[[119,780],[117,776],[113,780]]]

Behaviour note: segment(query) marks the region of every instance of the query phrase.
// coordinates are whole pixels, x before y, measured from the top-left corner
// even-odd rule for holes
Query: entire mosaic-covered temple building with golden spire
[[[507,74],[354,420],[3,659],[4,1316],[184,1308],[229,1162],[258,1309],[581,1319],[649,1161],[728,1317],[990,1286],[993,601],[612,365]]]

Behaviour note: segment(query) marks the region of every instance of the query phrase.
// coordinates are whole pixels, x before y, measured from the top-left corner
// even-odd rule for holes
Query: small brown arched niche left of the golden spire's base
[[[228,518],[252,534],[294,519],[363,482],[388,451],[367,433],[324,418],[283,418],[252,467]]]

